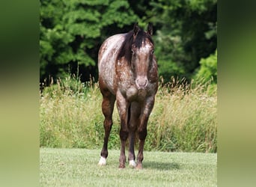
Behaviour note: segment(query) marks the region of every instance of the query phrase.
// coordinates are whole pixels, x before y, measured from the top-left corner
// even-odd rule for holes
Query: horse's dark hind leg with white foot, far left
[[[105,129],[105,136],[104,136],[104,144],[103,149],[100,153],[100,162],[99,165],[106,165],[106,158],[108,157],[108,141],[109,141],[109,133],[112,129],[112,114],[115,104],[115,96],[110,93],[109,91],[102,91],[103,93],[103,102],[102,102],[102,111],[105,117],[104,120],[104,129]]]

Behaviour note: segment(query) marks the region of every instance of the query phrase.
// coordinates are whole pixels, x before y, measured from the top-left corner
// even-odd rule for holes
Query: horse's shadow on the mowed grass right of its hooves
[[[157,170],[178,170],[180,165],[175,162],[143,162],[143,168],[152,168]]]

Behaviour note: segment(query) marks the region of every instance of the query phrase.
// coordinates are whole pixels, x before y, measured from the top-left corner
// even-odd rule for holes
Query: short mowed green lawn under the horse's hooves
[[[145,151],[139,171],[118,169],[119,153],[100,167],[100,150],[40,148],[40,186],[217,186],[216,153]]]

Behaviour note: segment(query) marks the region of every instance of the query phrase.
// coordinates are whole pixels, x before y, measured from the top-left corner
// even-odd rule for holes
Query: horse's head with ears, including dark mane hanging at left
[[[152,67],[153,55],[153,40],[151,35],[153,33],[152,25],[147,25],[147,31],[143,31],[135,23],[132,31],[126,35],[124,43],[118,53],[118,59],[124,57],[127,61],[134,77],[135,85],[138,90],[147,88],[148,72]]]

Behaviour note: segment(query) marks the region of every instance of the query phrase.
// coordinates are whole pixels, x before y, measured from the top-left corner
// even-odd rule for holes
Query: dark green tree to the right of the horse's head
[[[201,58],[217,47],[217,1],[150,1],[148,19],[157,25],[159,74],[191,79]]]

